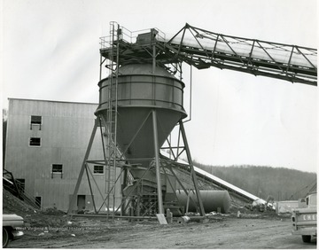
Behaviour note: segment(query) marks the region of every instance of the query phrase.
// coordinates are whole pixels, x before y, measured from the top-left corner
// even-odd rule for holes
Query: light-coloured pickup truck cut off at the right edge
[[[301,235],[303,242],[311,242],[316,237],[316,214],[316,191],[313,191],[292,210],[292,235]]]

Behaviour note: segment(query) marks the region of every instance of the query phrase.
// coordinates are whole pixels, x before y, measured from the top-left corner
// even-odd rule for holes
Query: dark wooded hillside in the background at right
[[[272,195],[276,200],[292,200],[305,197],[315,184],[316,174],[289,168],[265,166],[209,166],[194,162],[198,168],[249,191],[261,199]]]

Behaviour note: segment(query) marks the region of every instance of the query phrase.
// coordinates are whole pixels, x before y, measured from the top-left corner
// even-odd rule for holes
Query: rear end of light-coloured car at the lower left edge
[[[24,220],[19,215],[3,215],[3,248],[7,247],[10,240],[21,238],[23,231],[18,230],[24,225]]]

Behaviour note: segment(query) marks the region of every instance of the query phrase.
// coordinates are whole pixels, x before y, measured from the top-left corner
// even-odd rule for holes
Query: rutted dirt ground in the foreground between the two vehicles
[[[128,222],[105,218],[41,215],[29,217],[25,236],[12,248],[219,248],[315,249],[292,236],[289,217],[214,215],[206,222],[159,225],[157,221]]]

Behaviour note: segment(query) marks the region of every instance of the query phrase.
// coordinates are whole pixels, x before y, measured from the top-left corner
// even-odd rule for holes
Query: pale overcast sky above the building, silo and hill
[[[110,21],[177,33],[215,33],[315,48],[315,0],[4,0],[2,105],[7,98],[98,102],[99,37]],[[185,66],[186,92],[190,86]],[[104,75],[105,77],[106,75]],[[315,172],[317,88],[245,73],[193,70],[192,157]]]

